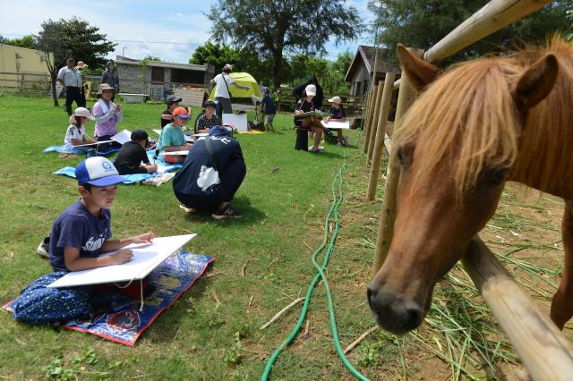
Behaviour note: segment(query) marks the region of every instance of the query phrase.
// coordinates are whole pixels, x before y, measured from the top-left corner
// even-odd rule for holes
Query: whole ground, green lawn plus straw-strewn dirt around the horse
[[[121,128],[143,128],[154,136],[151,129],[163,109],[124,105]],[[38,242],[78,198],[76,182],[52,173],[80,158],[42,153],[62,144],[67,120],[63,108],[47,98],[0,97],[2,304],[50,272],[47,260],[36,254]],[[278,114],[277,133],[238,135],[247,176],[234,204],[244,211],[243,219],[216,222],[208,215],[185,215],[171,182],[120,186],[112,209],[116,237],[148,230],[158,236],[198,233],[185,249],[215,256],[215,262],[133,348],[91,334],[28,326],[0,311],[0,378],[259,379],[266,360],[295,326],[301,305],[268,328],[259,327],[303,296],[311,283],[310,258],[322,241],[331,182],[345,162],[340,230],[327,271],[342,347],[374,326],[365,289],[372,277],[381,187],[375,201],[364,200],[368,169],[356,131],[348,132],[351,147],[327,144],[326,152],[312,155],[295,151],[291,125],[292,115]],[[88,131],[93,132],[93,123]],[[563,202],[533,193],[509,184],[480,235],[548,311],[562,273]],[[331,342],[321,285],[307,322],[278,357],[271,377],[351,379]],[[569,339],[570,328],[565,330]],[[381,380],[497,379],[500,371],[514,373],[518,362],[460,267],[437,284],[420,329],[401,338],[378,331],[348,358],[365,376]]]

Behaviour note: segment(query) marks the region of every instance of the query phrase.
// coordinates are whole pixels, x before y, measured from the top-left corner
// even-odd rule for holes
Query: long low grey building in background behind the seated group
[[[202,103],[203,93],[210,86],[215,68],[209,63],[165,63],[150,61],[145,66],[140,60],[117,56],[115,70],[119,75],[121,93],[144,93],[154,100],[165,100],[171,94],[189,93],[192,102],[195,97]]]

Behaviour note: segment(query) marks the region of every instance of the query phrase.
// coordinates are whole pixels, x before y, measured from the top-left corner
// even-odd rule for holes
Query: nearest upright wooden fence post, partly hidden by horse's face
[[[408,47],[408,50],[418,57],[422,57],[422,49],[414,49]],[[400,79],[400,90],[398,92],[398,105],[396,106],[396,117],[394,118],[394,131],[393,134],[400,128],[400,123],[407,109],[412,105],[415,99],[415,89],[408,80],[407,73],[402,70],[402,78]],[[374,253],[374,260],[372,265],[373,274],[375,275],[386,256],[394,236],[394,220],[396,219],[396,196],[398,191],[398,179],[400,176],[400,165],[398,158],[392,149],[389,156],[388,168],[386,170],[386,184],[384,186],[384,199],[382,200],[382,207],[380,212],[380,219],[378,221],[378,236],[376,237],[376,251]]]

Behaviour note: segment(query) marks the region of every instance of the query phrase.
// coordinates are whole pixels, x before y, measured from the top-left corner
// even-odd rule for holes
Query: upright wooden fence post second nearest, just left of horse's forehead
[[[370,177],[368,179],[368,191],[366,199],[374,199],[376,196],[376,185],[380,175],[380,163],[382,158],[382,146],[386,137],[386,124],[390,113],[390,101],[392,100],[392,90],[394,89],[394,77],[396,74],[387,72],[384,79],[384,89],[382,91],[381,109],[376,126],[374,138],[374,148],[372,150],[372,166],[370,167]]]

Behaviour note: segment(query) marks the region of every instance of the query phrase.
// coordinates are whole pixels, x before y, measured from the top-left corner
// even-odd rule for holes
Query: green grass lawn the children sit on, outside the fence
[[[130,131],[143,128],[153,137],[151,129],[158,128],[163,109],[162,105],[126,104],[120,127]],[[50,272],[47,260],[36,254],[38,242],[49,233],[56,216],[78,198],[76,182],[52,173],[65,165],[77,165],[81,159],[42,153],[42,148],[62,144],[67,120],[64,108],[54,107],[50,99],[0,97],[3,304],[38,276]],[[185,249],[216,257],[206,275],[159,316],[135,347],[91,334],[28,326],[2,311],[0,377],[35,379],[47,372],[82,379],[260,377],[264,360],[290,332],[299,309],[264,331],[259,327],[304,294],[310,283],[314,275],[311,248],[321,242],[332,178],[345,157],[345,149],[334,145],[327,145],[321,155],[295,151],[291,125],[291,115],[279,114],[275,119],[277,133],[238,136],[247,164],[247,176],[234,202],[244,211],[241,220],[215,222],[208,215],[186,216],[178,207],[171,182],[160,187],[120,187],[112,208],[115,237],[148,230],[158,236],[198,233]],[[90,123],[89,134],[93,127]],[[350,163],[361,153],[357,133],[349,134],[354,141],[354,147],[346,148]],[[335,280],[353,280],[356,271],[367,275],[371,251],[335,252],[329,275]],[[317,291],[309,333],[279,357],[272,373],[277,379],[348,375],[329,342],[326,304],[321,289]],[[343,344],[372,326],[364,294],[363,284],[353,285],[338,298],[348,303],[339,306]]]

